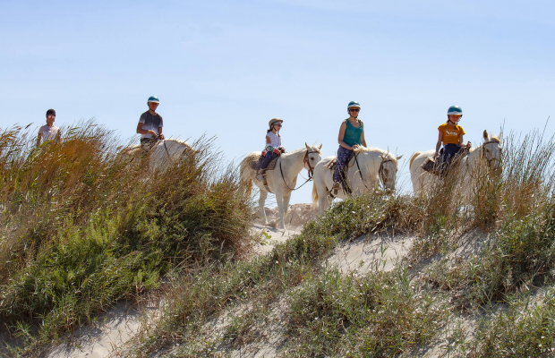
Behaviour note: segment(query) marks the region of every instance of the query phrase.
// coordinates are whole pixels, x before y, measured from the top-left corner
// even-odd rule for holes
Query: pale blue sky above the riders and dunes
[[[9,1],[0,127],[42,124],[53,107],[56,124],[94,116],[130,138],[157,95],[166,135],[217,135],[226,158],[262,149],[274,116],[285,120],[286,149],[323,143],[329,156],[346,104],[358,100],[371,146],[406,158],[432,149],[451,105],[477,144],[484,129],[529,132],[555,114],[554,10],[548,1]],[[309,202],[310,191],[292,202]]]

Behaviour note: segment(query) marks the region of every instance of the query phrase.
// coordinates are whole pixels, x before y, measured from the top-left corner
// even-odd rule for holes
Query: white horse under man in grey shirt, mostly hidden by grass
[[[193,150],[186,141],[176,139],[158,141],[147,153],[149,169],[155,171],[166,168],[168,164],[177,163],[185,154],[192,153]],[[134,144],[122,149],[119,156],[132,160],[133,158],[140,158],[142,154],[141,145]]]

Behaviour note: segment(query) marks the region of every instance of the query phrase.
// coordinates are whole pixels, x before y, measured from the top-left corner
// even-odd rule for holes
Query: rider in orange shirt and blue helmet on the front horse
[[[440,147],[441,143],[443,143],[441,176],[445,176],[448,166],[458,153],[460,153],[463,149],[469,149],[471,147],[470,141],[466,144],[463,143],[465,130],[463,130],[463,127],[458,125],[462,116],[463,110],[461,107],[451,106],[447,111],[447,123],[441,124],[438,127],[440,136],[436,144],[436,152],[433,155],[433,159],[440,156]]]

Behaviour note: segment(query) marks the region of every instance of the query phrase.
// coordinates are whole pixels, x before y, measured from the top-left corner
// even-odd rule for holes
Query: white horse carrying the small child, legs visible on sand
[[[276,195],[277,210],[279,212],[279,225],[282,229],[286,228],[284,217],[289,209],[289,199],[291,192],[295,189],[297,183],[297,175],[301,170],[306,169],[312,175],[314,166],[321,159],[320,147],[309,146],[304,143],[306,148],[295,149],[289,153],[284,153],[277,158],[276,167],[273,170],[266,171],[266,181],[270,192]],[[252,183],[260,188],[260,215],[264,224],[267,224],[266,213],[264,212],[264,203],[268,197],[268,190],[264,183],[256,179],[256,170],[252,169],[251,163],[256,162],[260,158],[260,151],[254,151],[241,161],[241,182],[248,196],[251,195]]]

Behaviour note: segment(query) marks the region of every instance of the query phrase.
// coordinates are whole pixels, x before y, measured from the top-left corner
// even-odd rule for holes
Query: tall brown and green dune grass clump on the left
[[[118,156],[121,140],[92,121],[39,149],[19,127],[0,138],[0,317],[27,350],[177,265],[239,257],[250,243],[250,198],[209,139],[149,173],[148,158]]]

